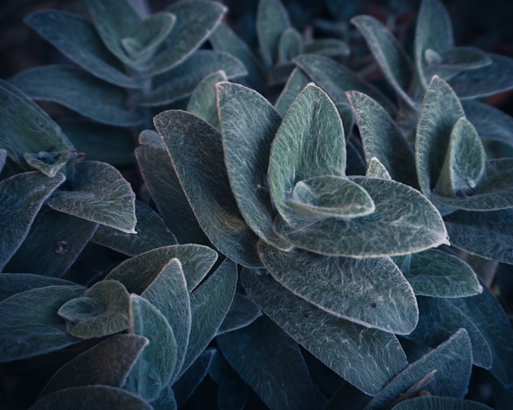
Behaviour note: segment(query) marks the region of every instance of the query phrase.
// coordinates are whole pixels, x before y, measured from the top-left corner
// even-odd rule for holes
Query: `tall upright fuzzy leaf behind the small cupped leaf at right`
[[[438,0],[427,0],[426,3]],[[427,197],[435,187],[445,160],[452,128],[465,113],[455,92],[434,76],[424,95],[417,123],[415,158],[422,193]]]

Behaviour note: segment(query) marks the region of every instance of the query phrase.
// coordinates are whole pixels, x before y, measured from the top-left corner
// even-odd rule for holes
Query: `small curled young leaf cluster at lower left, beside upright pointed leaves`
[[[68,321],[70,334],[88,339],[127,329],[128,309],[125,286],[116,280],[102,280],[83,296],[64,303],[57,313]]]

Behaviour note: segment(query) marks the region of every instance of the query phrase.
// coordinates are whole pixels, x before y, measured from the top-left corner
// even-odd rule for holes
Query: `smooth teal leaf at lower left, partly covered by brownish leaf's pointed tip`
[[[130,295],[130,332],[149,340],[130,372],[128,385],[152,401],[171,381],[176,365],[176,340],[166,318],[147,299]]]

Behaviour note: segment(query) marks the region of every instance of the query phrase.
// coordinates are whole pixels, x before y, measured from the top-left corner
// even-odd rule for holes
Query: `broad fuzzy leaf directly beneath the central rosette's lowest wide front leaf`
[[[415,295],[389,258],[282,252],[262,242],[259,252],[275,280],[334,316],[401,335],[415,329],[419,314]]]

